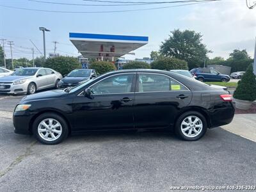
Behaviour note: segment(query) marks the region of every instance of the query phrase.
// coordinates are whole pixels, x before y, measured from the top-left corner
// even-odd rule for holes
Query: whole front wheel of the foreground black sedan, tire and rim
[[[67,138],[68,125],[56,113],[43,113],[33,122],[33,134],[43,144],[56,145]]]

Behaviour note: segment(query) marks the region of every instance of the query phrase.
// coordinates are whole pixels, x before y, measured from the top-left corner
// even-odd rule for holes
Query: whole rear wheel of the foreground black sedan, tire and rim
[[[187,125],[189,123],[190,117],[191,117],[192,124],[190,123],[190,125]],[[195,120],[197,121],[195,124],[193,124]],[[179,116],[179,118],[175,123],[175,134],[179,136],[179,138],[185,141],[199,140],[200,138],[202,138],[202,136],[204,136],[206,129],[207,129],[207,123],[206,123],[205,117],[204,115],[202,115],[201,113],[198,113],[197,111],[188,111],[183,113],[182,115]],[[189,136],[189,132],[190,132],[190,136]]]

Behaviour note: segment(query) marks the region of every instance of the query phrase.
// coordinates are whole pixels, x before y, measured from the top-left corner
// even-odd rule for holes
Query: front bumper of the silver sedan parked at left
[[[10,94],[24,94],[28,92],[28,83],[13,84],[13,83],[0,83],[4,88],[0,88],[0,93]]]

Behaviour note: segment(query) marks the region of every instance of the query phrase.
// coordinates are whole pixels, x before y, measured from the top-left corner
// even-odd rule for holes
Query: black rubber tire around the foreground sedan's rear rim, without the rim
[[[200,132],[200,134],[198,134],[195,137],[186,136],[182,132],[182,129],[181,129],[183,120],[185,120],[189,116],[196,116],[202,122],[201,132]],[[175,134],[177,136],[179,136],[179,138],[181,138],[182,140],[185,140],[185,141],[196,141],[196,140],[199,140],[200,138],[202,138],[202,136],[204,136],[206,130],[207,130],[207,122],[205,120],[205,117],[204,117],[204,115],[202,115],[201,113],[198,113],[197,111],[188,111],[188,112],[185,112],[182,115],[180,115],[179,118],[177,119],[177,121],[175,123],[175,127],[174,127]]]

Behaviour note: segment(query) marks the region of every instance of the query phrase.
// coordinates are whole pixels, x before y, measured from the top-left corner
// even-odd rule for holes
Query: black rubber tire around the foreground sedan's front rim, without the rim
[[[47,120],[48,118],[54,119],[61,124],[62,132],[56,140],[52,140],[52,141],[44,140],[42,138],[42,136],[40,136],[40,134],[38,133],[38,125],[40,124],[40,122],[42,122],[43,120]],[[45,134],[47,134],[47,132],[48,131],[45,131]],[[52,131],[49,131],[49,134],[53,134],[53,132],[52,133],[51,132]],[[65,119],[63,119],[60,115],[57,115],[56,113],[43,113],[42,115],[38,116],[35,119],[35,121],[33,122],[33,134],[34,134],[36,140],[40,141],[43,144],[56,145],[67,138],[68,125],[67,125],[67,122],[65,121]]]

